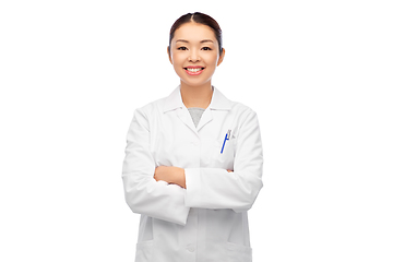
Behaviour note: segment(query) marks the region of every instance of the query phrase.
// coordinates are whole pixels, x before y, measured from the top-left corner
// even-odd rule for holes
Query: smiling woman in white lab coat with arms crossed
[[[135,261],[250,262],[247,211],[262,188],[257,114],[212,86],[225,49],[211,16],[178,19],[168,56],[180,85],[136,109],[127,134],[126,201],[141,214]]]

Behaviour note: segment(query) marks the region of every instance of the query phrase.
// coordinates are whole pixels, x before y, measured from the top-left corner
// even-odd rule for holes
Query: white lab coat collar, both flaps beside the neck
[[[177,108],[186,108],[180,93],[180,85],[178,85],[172,93],[165,98],[164,103],[164,112],[170,111]],[[221,93],[215,86],[213,86],[213,96],[211,104],[209,105],[210,109],[213,110],[230,110],[231,103],[226,98],[223,93]]]

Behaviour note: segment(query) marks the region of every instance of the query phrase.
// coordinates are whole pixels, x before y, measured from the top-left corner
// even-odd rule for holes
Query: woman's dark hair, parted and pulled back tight
[[[174,25],[170,27],[170,34],[169,34],[169,51],[170,51],[170,41],[174,38],[175,32],[177,31],[177,28],[179,28],[181,25],[183,25],[186,23],[190,23],[190,22],[207,25],[209,27],[211,27],[214,31],[215,37],[217,38],[217,41],[218,41],[219,55],[222,55],[223,37],[222,37],[222,31],[221,31],[221,27],[219,27],[217,21],[215,21],[212,16],[204,14],[204,13],[200,13],[200,12],[183,14],[174,23]]]

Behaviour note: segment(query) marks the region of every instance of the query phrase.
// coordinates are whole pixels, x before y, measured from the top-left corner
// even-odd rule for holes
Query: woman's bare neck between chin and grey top
[[[187,108],[201,107],[206,109],[212,100],[213,88],[211,82],[200,86],[190,86],[181,82],[180,93]]]

